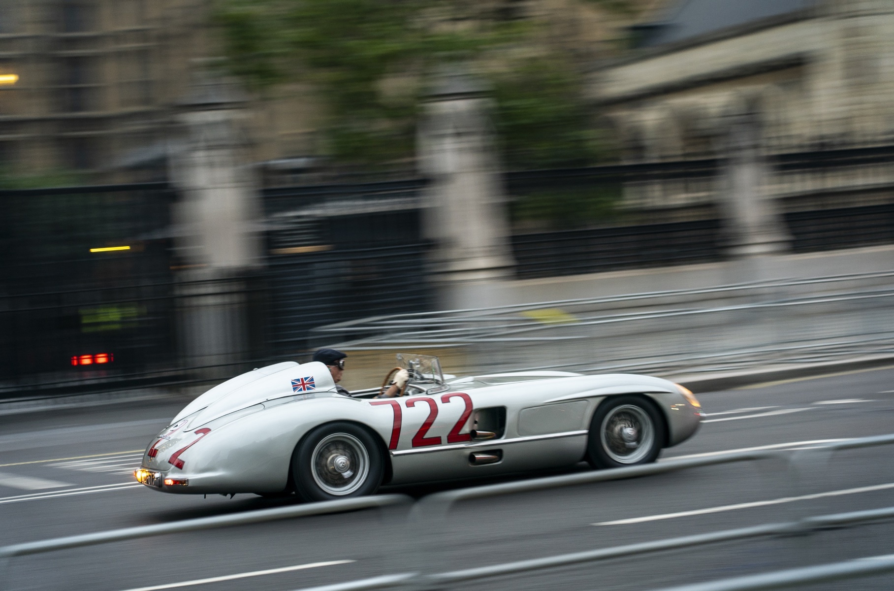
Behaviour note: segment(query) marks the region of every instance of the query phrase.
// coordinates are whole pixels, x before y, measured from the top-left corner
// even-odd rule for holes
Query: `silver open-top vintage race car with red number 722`
[[[398,364],[410,379],[396,398],[336,393],[318,362],[233,377],[149,442],[135,476],[165,493],[323,501],[581,460],[643,464],[691,437],[704,416],[686,388],[657,377],[535,371],[445,380],[436,357],[399,354]]]

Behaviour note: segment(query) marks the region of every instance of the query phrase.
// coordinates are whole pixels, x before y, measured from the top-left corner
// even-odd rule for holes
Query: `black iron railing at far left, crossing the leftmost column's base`
[[[221,381],[274,359],[263,276],[0,297],[0,399]]]

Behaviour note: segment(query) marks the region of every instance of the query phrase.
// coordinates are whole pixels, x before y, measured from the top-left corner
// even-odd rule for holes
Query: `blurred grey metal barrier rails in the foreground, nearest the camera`
[[[423,528],[414,528],[416,531],[439,530],[434,528],[437,524],[446,519],[447,512],[451,505],[457,501],[465,501],[471,499],[480,499],[492,497],[502,494],[517,494],[533,491],[548,490],[551,488],[583,485],[595,482],[605,482],[611,480],[620,480],[631,477],[652,476],[675,472],[682,469],[700,468],[705,466],[714,466],[721,464],[734,463],[739,461],[750,460],[772,460],[772,459],[789,459],[800,460],[807,453],[825,453],[827,456],[831,452],[841,450],[860,449],[881,445],[894,444],[894,434],[877,435],[872,437],[862,437],[850,439],[835,443],[827,443],[808,448],[807,450],[759,450],[754,452],[733,452],[720,454],[702,458],[690,458],[686,460],[669,460],[666,462],[647,464],[643,466],[633,466],[629,468],[609,469],[595,472],[585,472],[579,474],[569,474],[558,477],[541,477],[519,482],[502,483],[497,485],[473,486],[469,488],[446,491],[443,493],[430,494],[422,500],[414,503],[409,512],[409,521],[415,525],[420,525],[425,521],[427,526]],[[344,499],[332,502],[316,502],[305,505],[278,507],[274,509],[266,509],[260,511],[248,511],[235,515],[223,515],[199,519],[185,519],[168,524],[158,524],[153,526],[142,526],[138,528],[123,528],[106,532],[97,532],[94,534],[84,534],[80,536],[68,536],[42,540],[38,542],[29,542],[17,545],[7,545],[0,548],[0,562],[7,562],[15,556],[22,556],[35,553],[53,552],[65,548],[80,547],[85,545],[97,545],[110,542],[173,534],[182,531],[195,531],[198,529],[220,528],[234,525],[245,525],[250,523],[260,523],[275,519],[291,519],[296,517],[305,517],[309,515],[320,515],[325,513],[333,513],[338,511],[353,511],[357,509],[367,509],[373,507],[384,507],[409,502],[408,496],[403,494],[386,494],[371,497],[358,497],[352,499]],[[429,588],[443,586],[448,583],[467,581],[477,578],[488,578],[514,574],[532,570],[544,570],[565,566],[569,564],[599,561],[620,556],[634,555],[639,553],[658,552],[662,550],[670,550],[674,548],[687,547],[692,545],[705,545],[721,541],[729,541],[734,539],[745,539],[755,536],[771,536],[783,534],[801,534],[812,531],[817,528],[841,527],[849,524],[860,522],[891,519],[894,518],[894,507],[871,511],[851,511],[847,513],[837,513],[831,515],[814,516],[810,518],[800,519],[797,521],[764,524],[751,528],[738,528],[724,530],[718,532],[710,532],[707,534],[696,536],[682,536],[646,542],[634,545],[615,546],[610,548],[602,548],[583,553],[569,553],[544,558],[536,558],[527,561],[514,561],[509,563],[488,565],[485,567],[477,567],[473,569],[456,570],[450,572],[423,574],[422,569],[417,572],[404,572],[382,577],[359,579],[355,581],[347,581],[335,585],[324,587],[312,587],[304,591],[361,591],[365,589],[381,589],[392,587],[410,588]],[[413,541],[418,550],[418,540]],[[785,577],[807,577],[805,582],[813,581],[815,576],[821,576],[816,573],[833,572],[838,573],[834,576],[839,578],[856,576],[859,573],[872,574],[874,570],[866,570],[864,566],[854,566],[855,561],[842,562],[841,565],[851,565],[848,567],[840,567],[838,570],[831,569],[836,565],[825,565],[831,570],[823,570],[824,567],[811,567],[811,569],[819,569],[814,572],[810,569],[796,569],[791,571],[780,571],[780,580],[788,580]],[[894,570],[892,568],[891,570]],[[784,574],[789,573],[789,574]],[[790,573],[795,573],[790,574]],[[856,573],[856,574],[855,574]],[[2,574],[2,573],[0,573]],[[770,573],[772,575],[774,573]],[[735,585],[755,585],[754,581],[761,585],[768,580],[776,580],[775,578],[762,578],[770,575],[758,575],[754,577],[729,579]],[[822,576],[826,576],[822,574]],[[0,576],[0,581],[5,577]],[[818,578],[815,580],[825,580]],[[743,582],[744,581],[744,582]],[[700,585],[711,585],[700,584]],[[726,581],[718,581],[717,585],[727,584]],[[775,584],[775,583],[774,583]],[[691,587],[691,588],[690,588]],[[774,588],[774,587],[679,587],[674,591],[720,591],[721,589],[750,589],[750,588]]]

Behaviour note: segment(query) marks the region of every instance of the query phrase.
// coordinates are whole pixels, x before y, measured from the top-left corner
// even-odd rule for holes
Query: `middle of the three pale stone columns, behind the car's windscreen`
[[[463,72],[443,72],[425,98],[417,150],[426,190],[426,237],[436,243],[434,278],[442,308],[492,305],[512,259],[484,87]]]

